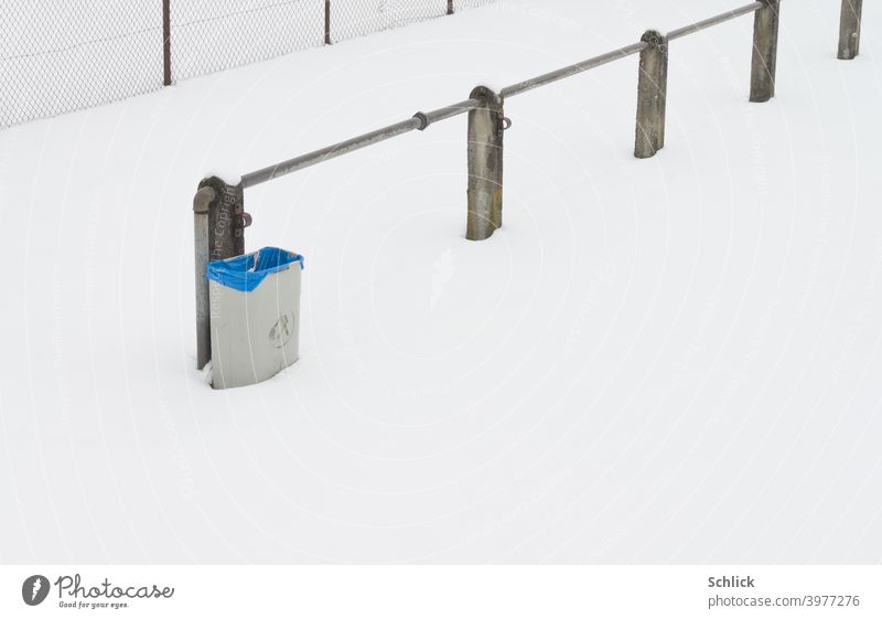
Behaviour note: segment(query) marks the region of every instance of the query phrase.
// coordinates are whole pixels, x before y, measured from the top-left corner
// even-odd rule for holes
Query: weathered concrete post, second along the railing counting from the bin
[[[470,98],[485,104],[469,113],[469,220],[465,238],[484,241],[503,225],[503,100],[478,86]]]

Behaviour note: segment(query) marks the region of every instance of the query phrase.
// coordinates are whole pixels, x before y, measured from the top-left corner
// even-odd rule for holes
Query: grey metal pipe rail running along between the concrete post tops
[[[668,41],[673,41],[675,39],[680,39],[688,34],[693,34],[707,28],[711,28],[713,25],[739,18],[741,15],[759,11],[763,7],[766,7],[767,3],[768,0],[757,0],[756,2],[751,2],[750,4],[745,4],[738,9],[720,13],[719,15],[714,15],[712,18],[692,23],[690,25],[686,25],[684,28],[678,28],[677,30],[670,31],[667,34],[667,39]],[[593,58],[588,58],[587,61],[582,61],[572,64],[570,66],[564,66],[563,68],[559,68],[557,71],[552,71],[550,73],[546,73],[537,77],[533,77],[531,79],[526,79],[524,82],[518,82],[517,84],[513,84],[512,86],[507,86],[502,90],[499,90],[499,96],[503,99],[506,99],[508,97],[514,97],[515,95],[520,95],[528,90],[533,90],[534,88],[539,88],[540,86],[546,86],[553,82],[558,82],[567,77],[572,77],[573,75],[578,75],[585,71],[596,68],[613,61],[624,58],[633,54],[637,54],[644,51],[648,46],[649,43],[646,43],[645,41],[641,41],[638,43],[632,43],[631,45],[625,45],[624,47],[620,47],[619,50],[614,50],[612,52],[594,56]],[[442,107],[426,114],[417,113],[416,115],[413,115],[412,118],[402,120],[401,122],[396,122],[395,125],[389,125],[388,127],[376,129],[368,134],[363,134],[355,138],[344,140],[342,142],[337,142],[335,145],[319,150],[314,150],[312,152],[308,152],[306,154],[301,154],[300,157],[295,157],[293,159],[282,161],[275,166],[269,166],[267,168],[262,168],[255,172],[245,174],[241,178],[243,188],[249,188],[270,181],[272,179],[278,179],[279,177],[297,172],[298,170],[309,168],[310,166],[315,166],[316,163],[321,163],[322,161],[327,161],[329,159],[334,159],[342,154],[346,154],[347,152],[361,150],[370,145],[388,140],[390,138],[400,136],[402,134],[407,134],[409,131],[413,131],[417,129],[423,130],[432,122],[438,122],[439,120],[444,120],[447,118],[453,118],[454,116],[465,114],[466,111],[476,109],[485,105],[485,103],[486,102],[482,99],[466,99],[464,102]]]

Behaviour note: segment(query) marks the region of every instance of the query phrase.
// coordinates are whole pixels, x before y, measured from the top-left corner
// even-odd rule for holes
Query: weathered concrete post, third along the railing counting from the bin
[[[641,52],[637,82],[637,136],[634,157],[646,159],[665,148],[665,107],[668,92],[668,40],[656,30],[641,38],[648,46]]]

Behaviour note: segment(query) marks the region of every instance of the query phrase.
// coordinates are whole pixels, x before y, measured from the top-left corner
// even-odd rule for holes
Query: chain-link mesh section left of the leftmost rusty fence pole
[[[0,0],[0,127],[160,88],[161,7]]]

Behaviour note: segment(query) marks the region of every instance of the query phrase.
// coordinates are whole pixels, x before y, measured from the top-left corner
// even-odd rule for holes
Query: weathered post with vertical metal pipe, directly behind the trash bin
[[[193,198],[196,260],[196,366],[212,357],[211,308],[206,265],[245,253],[245,228],[251,217],[245,212],[241,183],[230,185],[217,177],[203,179]]]

